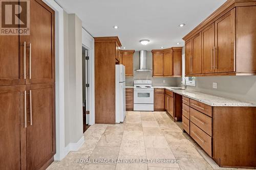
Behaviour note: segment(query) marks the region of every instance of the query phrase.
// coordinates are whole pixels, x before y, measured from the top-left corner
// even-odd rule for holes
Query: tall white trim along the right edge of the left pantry
[[[54,160],[61,160],[65,157],[63,9],[54,0],[43,1],[55,11],[56,154]]]

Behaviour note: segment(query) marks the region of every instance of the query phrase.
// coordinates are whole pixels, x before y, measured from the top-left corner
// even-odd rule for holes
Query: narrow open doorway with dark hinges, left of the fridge
[[[89,50],[82,46],[82,104],[83,132],[89,127]]]

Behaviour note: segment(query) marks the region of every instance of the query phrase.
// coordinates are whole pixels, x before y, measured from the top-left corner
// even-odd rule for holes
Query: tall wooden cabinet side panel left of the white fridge
[[[94,38],[95,64],[95,123],[115,124],[115,64],[118,37]]]

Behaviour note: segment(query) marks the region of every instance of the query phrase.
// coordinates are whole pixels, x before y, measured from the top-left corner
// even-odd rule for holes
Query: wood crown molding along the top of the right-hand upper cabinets
[[[220,6],[217,10],[215,10],[210,16],[208,16],[205,20],[203,20],[195,29],[190,31],[187,35],[185,35],[182,39],[187,41],[198,32],[202,31],[204,28],[209,26],[212,22],[217,20],[226,12],[231,9],[239,6],[256,6],[256,0],[228,0],[222,6]]]

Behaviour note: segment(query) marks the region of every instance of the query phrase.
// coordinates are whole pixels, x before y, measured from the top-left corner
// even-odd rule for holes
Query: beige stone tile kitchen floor
[[[122,124],[91,126],[84,133],[85,142],[77,152],[70,152],[47,169],[237,169],[219,167],[180,127],[166,112],[130,111]],[[77,159],[153,159],[153,162],[77,163]],[[156,159],[176,159],[179,163],[158,163]]]

